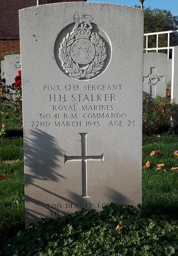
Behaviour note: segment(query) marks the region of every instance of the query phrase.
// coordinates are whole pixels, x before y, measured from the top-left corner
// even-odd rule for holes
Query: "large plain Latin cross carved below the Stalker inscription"
[[[65,155],[65,163],[68,161],[81,161],[81,176],[82,176],[82,195],[88,196],[87,187],[87,161],[102,161],[104,163],[104,155],[87,155],[87,134],[79,133],[81,136],[81,156]]]

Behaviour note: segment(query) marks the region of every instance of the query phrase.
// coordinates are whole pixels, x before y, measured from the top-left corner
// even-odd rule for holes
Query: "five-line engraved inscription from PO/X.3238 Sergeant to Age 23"
[[[129,112],[118,108],[125,86],[122,84],[45,84],[42,90],[51,104],[48,112],[38,113],[33,129],[134,129],[137,123]],[[68,91],[73,92],[67,94]],[[88,91],[91,93],[88,94]],[[80,131],[79,130],[79,131]]]

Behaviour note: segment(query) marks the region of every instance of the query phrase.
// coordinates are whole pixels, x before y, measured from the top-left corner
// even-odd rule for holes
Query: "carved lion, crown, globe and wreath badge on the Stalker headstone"
[[[86,13],[74,15],[76,23],[60,43],[59,59],[65,72],[74,79],[92,79],[102,72],[106,46],[97,33],[92,33],[92,20]]]

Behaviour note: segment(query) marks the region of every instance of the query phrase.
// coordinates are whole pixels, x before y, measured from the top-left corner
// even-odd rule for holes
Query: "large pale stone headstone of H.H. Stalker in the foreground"
[[[26,225],[111,202],[137,206],[143,11],[34,6],[20,10],[20,41]]]

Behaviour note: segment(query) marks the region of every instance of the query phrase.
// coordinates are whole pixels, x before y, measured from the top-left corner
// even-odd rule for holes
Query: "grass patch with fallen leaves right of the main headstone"
[[[154,212],[177,215],[178,183],[177,172],[171,172],[172,167],[178,167],[178,157],[173,155],[178,148],[177,135],[161,137],[143,137],[143,165],[147,161],[150,168],[143,170],[143,207]],[[153,150],[160,150],[159,155],[149,157]],[[163,170],[154,170],[158,163],[165,163]]]

